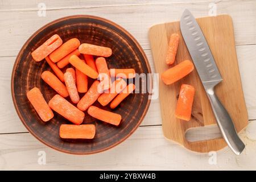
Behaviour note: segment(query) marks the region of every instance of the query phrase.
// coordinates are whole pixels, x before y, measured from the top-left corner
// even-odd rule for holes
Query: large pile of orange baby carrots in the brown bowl
[[[135,70],[108,69],[105,57],[111,55],[112,49],[109,47],[80,44],[76,38],[63,43],[57,34],[32,51],[31,56],[35,61],[45,59],[51,67],[52,72],[44,71],[41,78],[57,94],[47,103],[40,89],[35,87],[27,92],[27,98],[44,122],[52,119],[55,111],[75,124],[61,125],[60,138],[94,138],[95,125],[83,124],[86,110],[100,121],[115,126],[120,124],[121,115],[93,106],[98,101],[102,106],[110,104],[110,108],[115,109],[135,89],[134,84],[127,85],[124,79],[135,77]],[[112,82],[111,77],[117,79]],[[96,79],[90,88],[88,79]],[[81,94],[84,95],[80,98]]]

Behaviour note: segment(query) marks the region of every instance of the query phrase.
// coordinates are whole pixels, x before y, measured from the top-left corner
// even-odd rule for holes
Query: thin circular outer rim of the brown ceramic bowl
[[[34,34],[32,34],[30,36],[30,38],[27,39],[27,41],[23,44],[22,48],[20,48],[20,51],[18,53],[18,55],[16,56],[16,59],[15,59],[15,62],[14,62],[14,65],[13,65],[13,71],[11,73],[11,98],[13,100],[13,104],[14,104],[14,107],[15,107],[15,110],[16,110],[16,113],[18,114],[18,117],[20,119],[20,121],[22,121],[23,125],[26,127],[26,129],[29,131],[29,133],[31,133],[36,139],[38,139],[41,143],[45,144],[46,146],[52,148],[53,150],[55,151],[60,151],[60,152],[64,152],[66,154],[73,154],[73,155],[89,155],[89,154],[97,154],[99,152],[103,152],[103,151],[106,151],[106,150],[109,150],[110,148],[113,148],[115,146],[117,146],[118,144],[122,143],[123,141],[125,141],[127,138],[129,138],[135,130],[138,129],[139,125],[141,125],[147,111],[148,111],[148,107],[150,106],[150,103],[151,103],[151,100],[148,99],[147,101],[147,104],[146,104],[146,108],[144,109],[143,113],[142,113],[142,117],[139,119],[137,125],[131,130],[131,132],[129,134],[127,134],[124,138],[118,140],[118,142],[115,142],[114,144],[108,146],[108,147],[105,147],[105,148],[102,148],[100,150],[96,150],[96,151],[92,151],[92,152],[71,152],[71,151],[67,151],[67,150],[63,150],[63,149],[60,149],[58,147],[55,147],[55,146],[52,146],[51,144],[48,144],[47,142],[44,142],[44,140],[40,139],[31,129],[30,127],[27,125],[27,123],[24,121],[22,115],[20,114],[20,111],[19,111],[19,108],[18,108],[18,105],[16,103],[16,100],[15,100],[15,94],[14,94],[14,73],[15,73],[15,70],[16,70],[16,67],[18,65],[18,60],[20,60],[20,56],[22,55],[23,53],[23,50],[27,47],[28,43],[35,38],[36,35],[39,34],[40,31],[43,31],[45,28],[51,26],[52,24],[55,24],[55,23],[58,23],[58,22],[61,22],[65,19],[75,19],[75,18],[92,18],[92,19],[98,19],[98,20],[102,20],[106,23],[109,23],[109,24],[112,24],[113,26],[117,27],[119,30],[123,31],[126,35],[128,35],[131,40],[133,40],[133,42],[136,44],[136,46],[138,47],[139,51],[142,53],[143,57],[144,57],[144,60],[146,62],[146,67],[148,69],[148,73],[152,73],[151,72],[151,68],[150,68],[150,64],[148,62],[148,59],[147,59],[147,56],[146,56],[146,53],[144,52],[143,48],[141,47],[141,45],[138,43],[138,41],[134,38],[133,35],[131,35],[127,30],[125,30],[125,28],[119,26],[119,24],[117,23],[114,23],[112,22],[111,20],[108,20],[108,19],[105,19],[105,18],[101,18],[100,16],[94,16],[94,15],[71,15],[71,16],[64,16],[62,18],[58,18],[58,19],[55,19],[47,24],[45,24],[44,26],[42,26],[41,28],[39,28],[38,30],[36,30],[34,32]],[[151,85],[151,82],[150,82],[150,85]],[[151,88],[151,87],[150,87]]]

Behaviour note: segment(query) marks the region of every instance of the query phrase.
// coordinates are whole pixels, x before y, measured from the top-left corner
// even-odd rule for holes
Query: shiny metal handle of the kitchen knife
[[[226,111],[220,100],[218,100],[218,97],[214,93],[214,87],[207,89],[206,91],[223,138],[232,151],[236,155],[240,155],[245,148],[245,144],[243,144],[242,140],[238,137],[236,128],[234,127],[228,111]]]

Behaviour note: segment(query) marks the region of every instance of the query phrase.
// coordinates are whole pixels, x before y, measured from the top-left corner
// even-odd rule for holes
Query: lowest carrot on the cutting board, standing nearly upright
[[[195,88],[192,85],[181,85],[179,99],[175,110],[176,118],[183,119],[185,121],[190,120],[194,96]]]

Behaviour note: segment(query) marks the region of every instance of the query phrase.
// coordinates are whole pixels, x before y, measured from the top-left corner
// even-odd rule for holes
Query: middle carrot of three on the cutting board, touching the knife
[[[190,72],[193,71],[193,69],[194,65],[191,61],[182,61],[181,63],[175,65],[175,67],[167,69],[167,71],[163,72],[162,80],[164,84],[170,85],[175,81],[180,80],[184,76],[187,76]]]

